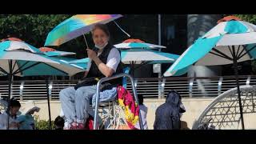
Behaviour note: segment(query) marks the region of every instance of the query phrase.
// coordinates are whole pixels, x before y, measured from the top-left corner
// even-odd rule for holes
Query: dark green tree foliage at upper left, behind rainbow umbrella
[[[68,14],[1,14],[0,38],[10,35],[43,46],[50,30],[69,17]]]

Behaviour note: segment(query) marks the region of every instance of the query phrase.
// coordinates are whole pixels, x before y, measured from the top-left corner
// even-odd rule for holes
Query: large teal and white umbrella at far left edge
[[[0,43],[0,74],[7,75],[10,85],[14,75],[62,75],[71,76],[84,71],[82,67],[70,65],[58,58],[49,57],[40,50],[25,42],[5,41]],[[46,79],[47,100],[50,116],[50,102],[48,93],[48,79]],[[7,110],[9,111],[9,109]],[[9,117],[8,117],[9,122]],[[7,127],[8,129],[9,127]]]

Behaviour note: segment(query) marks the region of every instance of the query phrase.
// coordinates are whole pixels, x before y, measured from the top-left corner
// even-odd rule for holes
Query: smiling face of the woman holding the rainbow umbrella
[[[106,42],[109,41],[109,37],[101,29],[95,29],[93,31],[93,39],[94,39],[94,44],[100,47],[105,46]]]

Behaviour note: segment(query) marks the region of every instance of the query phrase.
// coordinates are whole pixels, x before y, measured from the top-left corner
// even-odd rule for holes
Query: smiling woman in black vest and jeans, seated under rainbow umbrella
[[[104,78],[113,74],[122,73],[120,52],[110,44],[110,32],[106,25],[97,24],[92,30],[92,38],[95,44],[94,50],[86,49],[90,62],[87,64],[86,78]],[[112,85],[122,83],[122,79],[110,82]],[[96,93],[96,83],[92,86],[81,86],[77,90],[69,87],[61,90],[59,98],[62,110],[68,124],[67,129],[84,129],[90,99]]]

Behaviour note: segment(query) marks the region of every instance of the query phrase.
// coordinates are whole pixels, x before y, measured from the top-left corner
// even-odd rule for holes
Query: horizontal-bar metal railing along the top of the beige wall
[[[160,80],[160,83],[158,82]],[[127,80],[127,89],[132,91],[131,83]],[[50,100],[58,100],[60,90],[74,86],[78,81],[51,81],[49,85]],[[240,85],[256,85],[256,75],[239,76]],[[177,90],[182,97],[209,98],[217,97],[226,90],[236,87],[233,76],[205,78],[136,78],[134,80],[137,94],[145,98],[164,98],[168,91]],[[8,95],[8,82],[0,81],[0,97]],[[46,81],[14,81],[11,96],[21,101],[46,99]]]

